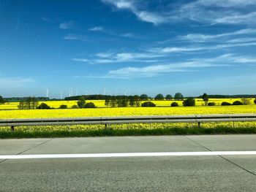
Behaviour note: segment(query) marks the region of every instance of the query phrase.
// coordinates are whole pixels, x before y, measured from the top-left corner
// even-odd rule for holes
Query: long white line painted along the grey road
[[[37,155],[0,155],[0,159],[28,158],[127,158],[160,156],[201,156],[201,155],[256,155],[256,151],[200,151],[200,152],[154,152],[154,153],[78,153],[78,154],[37,154]]]

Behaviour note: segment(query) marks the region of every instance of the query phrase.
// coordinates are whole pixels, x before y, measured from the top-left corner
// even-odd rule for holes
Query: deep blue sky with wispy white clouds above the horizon
[[[256,0],[0,0],[0,95],[255,94]]]

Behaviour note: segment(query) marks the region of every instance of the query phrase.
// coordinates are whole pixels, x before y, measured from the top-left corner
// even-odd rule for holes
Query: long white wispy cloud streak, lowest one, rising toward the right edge
[[[178,72],[199,72],[209,67],[238,66],[238,64],[252,65],[256,62],[256,57],[241,56],[234,54],[219,55],[215,58],[192,58],[184,62],[173,64],[152,64],[149,66],[129,66],[115,70],[110,70],[107,74],[76,76],[77,78],[117,78],[133,79],[143,77],[157,77]]]

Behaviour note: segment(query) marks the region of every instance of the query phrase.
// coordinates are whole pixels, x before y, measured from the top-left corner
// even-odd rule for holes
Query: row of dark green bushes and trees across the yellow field
[[[87,97],[88,98],[88,97]],[[203,95],[200,97],[205,102],[206,106],[214,106],[214,102],[208,102],[209,96],[206,93],[203,93]],[[105,107],[155,107],[156,104],[154,104],[152,101],[148,101],[151,98],[146,95],[142,94],[140,96],[105,96]],[[184,99],[184,96],[181,93],[176,93],[174,98],[167,94],[167,96],[163,96],[162,94],[157,94],[155,96],[154,100],[182,100],[183,106],[195,106],[195,98],[189,97],[187,99]],[[2,96],[0,96],[0,104],[4,104],[6,101]],[[251,101],[249,98],[242,98],[241,101],[234,101],[233,105],[242,105],[242,104],[250,104]],[[256,99],[254,100],[254,103],[256,104]],[[231,105],[227,101],[222,102],[221,105]],[[172,102],[170,104],[171,107],[178,107],[177,102]],[[60,109],[67,109],[67,105],[61,104],[59,107]],[[92,102],[86,102],[86,96],[80,96],[78,97],[77,105],[73,105],[72,108],[96,108],[95,104]],[[39,104],[39,101],[36,97],[26,97],[23,98],[22,101],[18,104],[18,109],[20,110],[34,110],[34,109],[50,109],[48,104],[41,103]]]

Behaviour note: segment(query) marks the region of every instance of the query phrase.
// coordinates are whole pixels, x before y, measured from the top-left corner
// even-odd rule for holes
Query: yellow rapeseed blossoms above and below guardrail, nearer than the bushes
[[[94,108],[94,109],[53,109],[53,110],[0,110],[0,119],[11,118],[72,118],[72,117],[99,117],[99,116],[127,116],[127,115],[198,115],[198,114],[239,114],[256,113],[256,105],[241,106],[214,106],[214,107],[116,107],[116,108]],[[129,128],[186,128],[197,126],[195,123],[136,123],[112,125],[115,129]],[[233,123],[202,123],[204,128],[233,127]],[[255,127],[255,122],[236,122],[236,127]],[[51,132],[71,130],[104,129],[104,125],[77,125],[77,126],[23,126],[16,130],[23,132]],[[0,127],[0,131],[10,131],[10,127]]]

